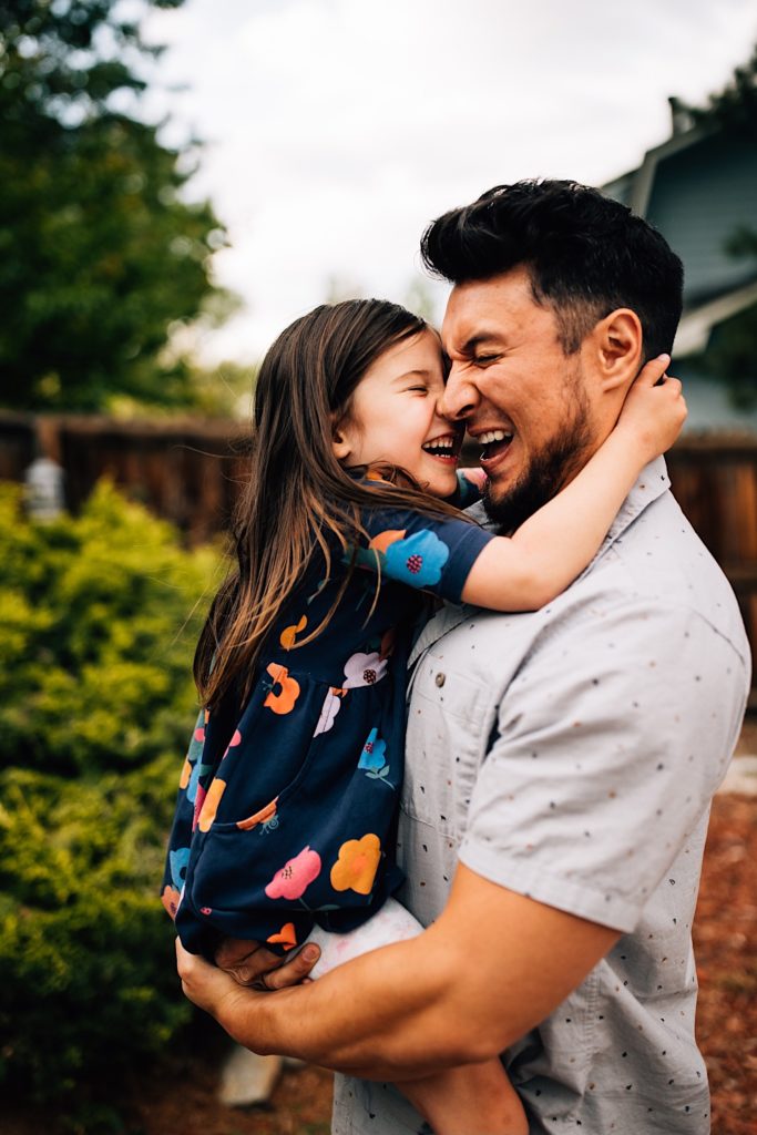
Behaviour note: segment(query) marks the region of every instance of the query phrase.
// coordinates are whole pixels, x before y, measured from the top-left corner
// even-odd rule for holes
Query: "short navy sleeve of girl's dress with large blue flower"
[[[369,541],[358,552],[360,568],[382,578],[460,603],[465,580],[494,539],[478,524],[456,516],[429,516],[406,508],[365,510]]]

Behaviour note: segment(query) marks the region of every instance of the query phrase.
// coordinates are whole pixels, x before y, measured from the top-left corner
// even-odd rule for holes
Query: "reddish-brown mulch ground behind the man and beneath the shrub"
[[[741,751],[757,754],[757,723]],[[700,994],[698,1036],[713,1090],[713,1135],[756,1135],[757,1120],[757,796],[720,796],[713,807],[695,925]],[[219,1039],[131,1093],[129,1135],[328,1135],[331,1077],[286,1071],[266,1108],[215,1102]],[[166,1084],[170,1087],[167,1091]],[[0,1113],[2,1135],[54,1130],[54,1117]],[[72,1128],[69,1127],[69,1130]],[[76,1135],[89,1135],[79,1128]]]

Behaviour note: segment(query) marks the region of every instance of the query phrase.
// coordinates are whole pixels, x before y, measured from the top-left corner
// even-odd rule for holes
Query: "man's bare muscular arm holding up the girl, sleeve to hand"
[[[461,865],[447,907],[423,934],[316,982],[259,993],[180,950],[179,974],[186,995],[245,1048],[401,1082],[496,1056],[617,938]]]

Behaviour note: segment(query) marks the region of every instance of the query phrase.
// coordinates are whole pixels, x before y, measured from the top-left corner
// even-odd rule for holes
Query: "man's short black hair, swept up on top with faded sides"
[[[651,225],[587,185],[497,185],[432,221],[421,254],[452,284],[527,268],[533,299],[555,312],[565,354],[616,308],[639,317],[645,360],[673,346],[683,291],[679,257]]]

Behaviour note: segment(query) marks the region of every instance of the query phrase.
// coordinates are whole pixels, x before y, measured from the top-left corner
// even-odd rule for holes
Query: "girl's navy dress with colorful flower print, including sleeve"
[[[314,923],[360,925],[402,882],[392,852],[419,592],[459,603],[491,537],[409,511],[362,520],[370,541],[326,630],[297,647],[344,582],[340,549],[328,578],[314,557],[285,604],[246,704],[229,695],[197,718],[162,891],[193,953],[212,958],[226,936],[283,953]]]

